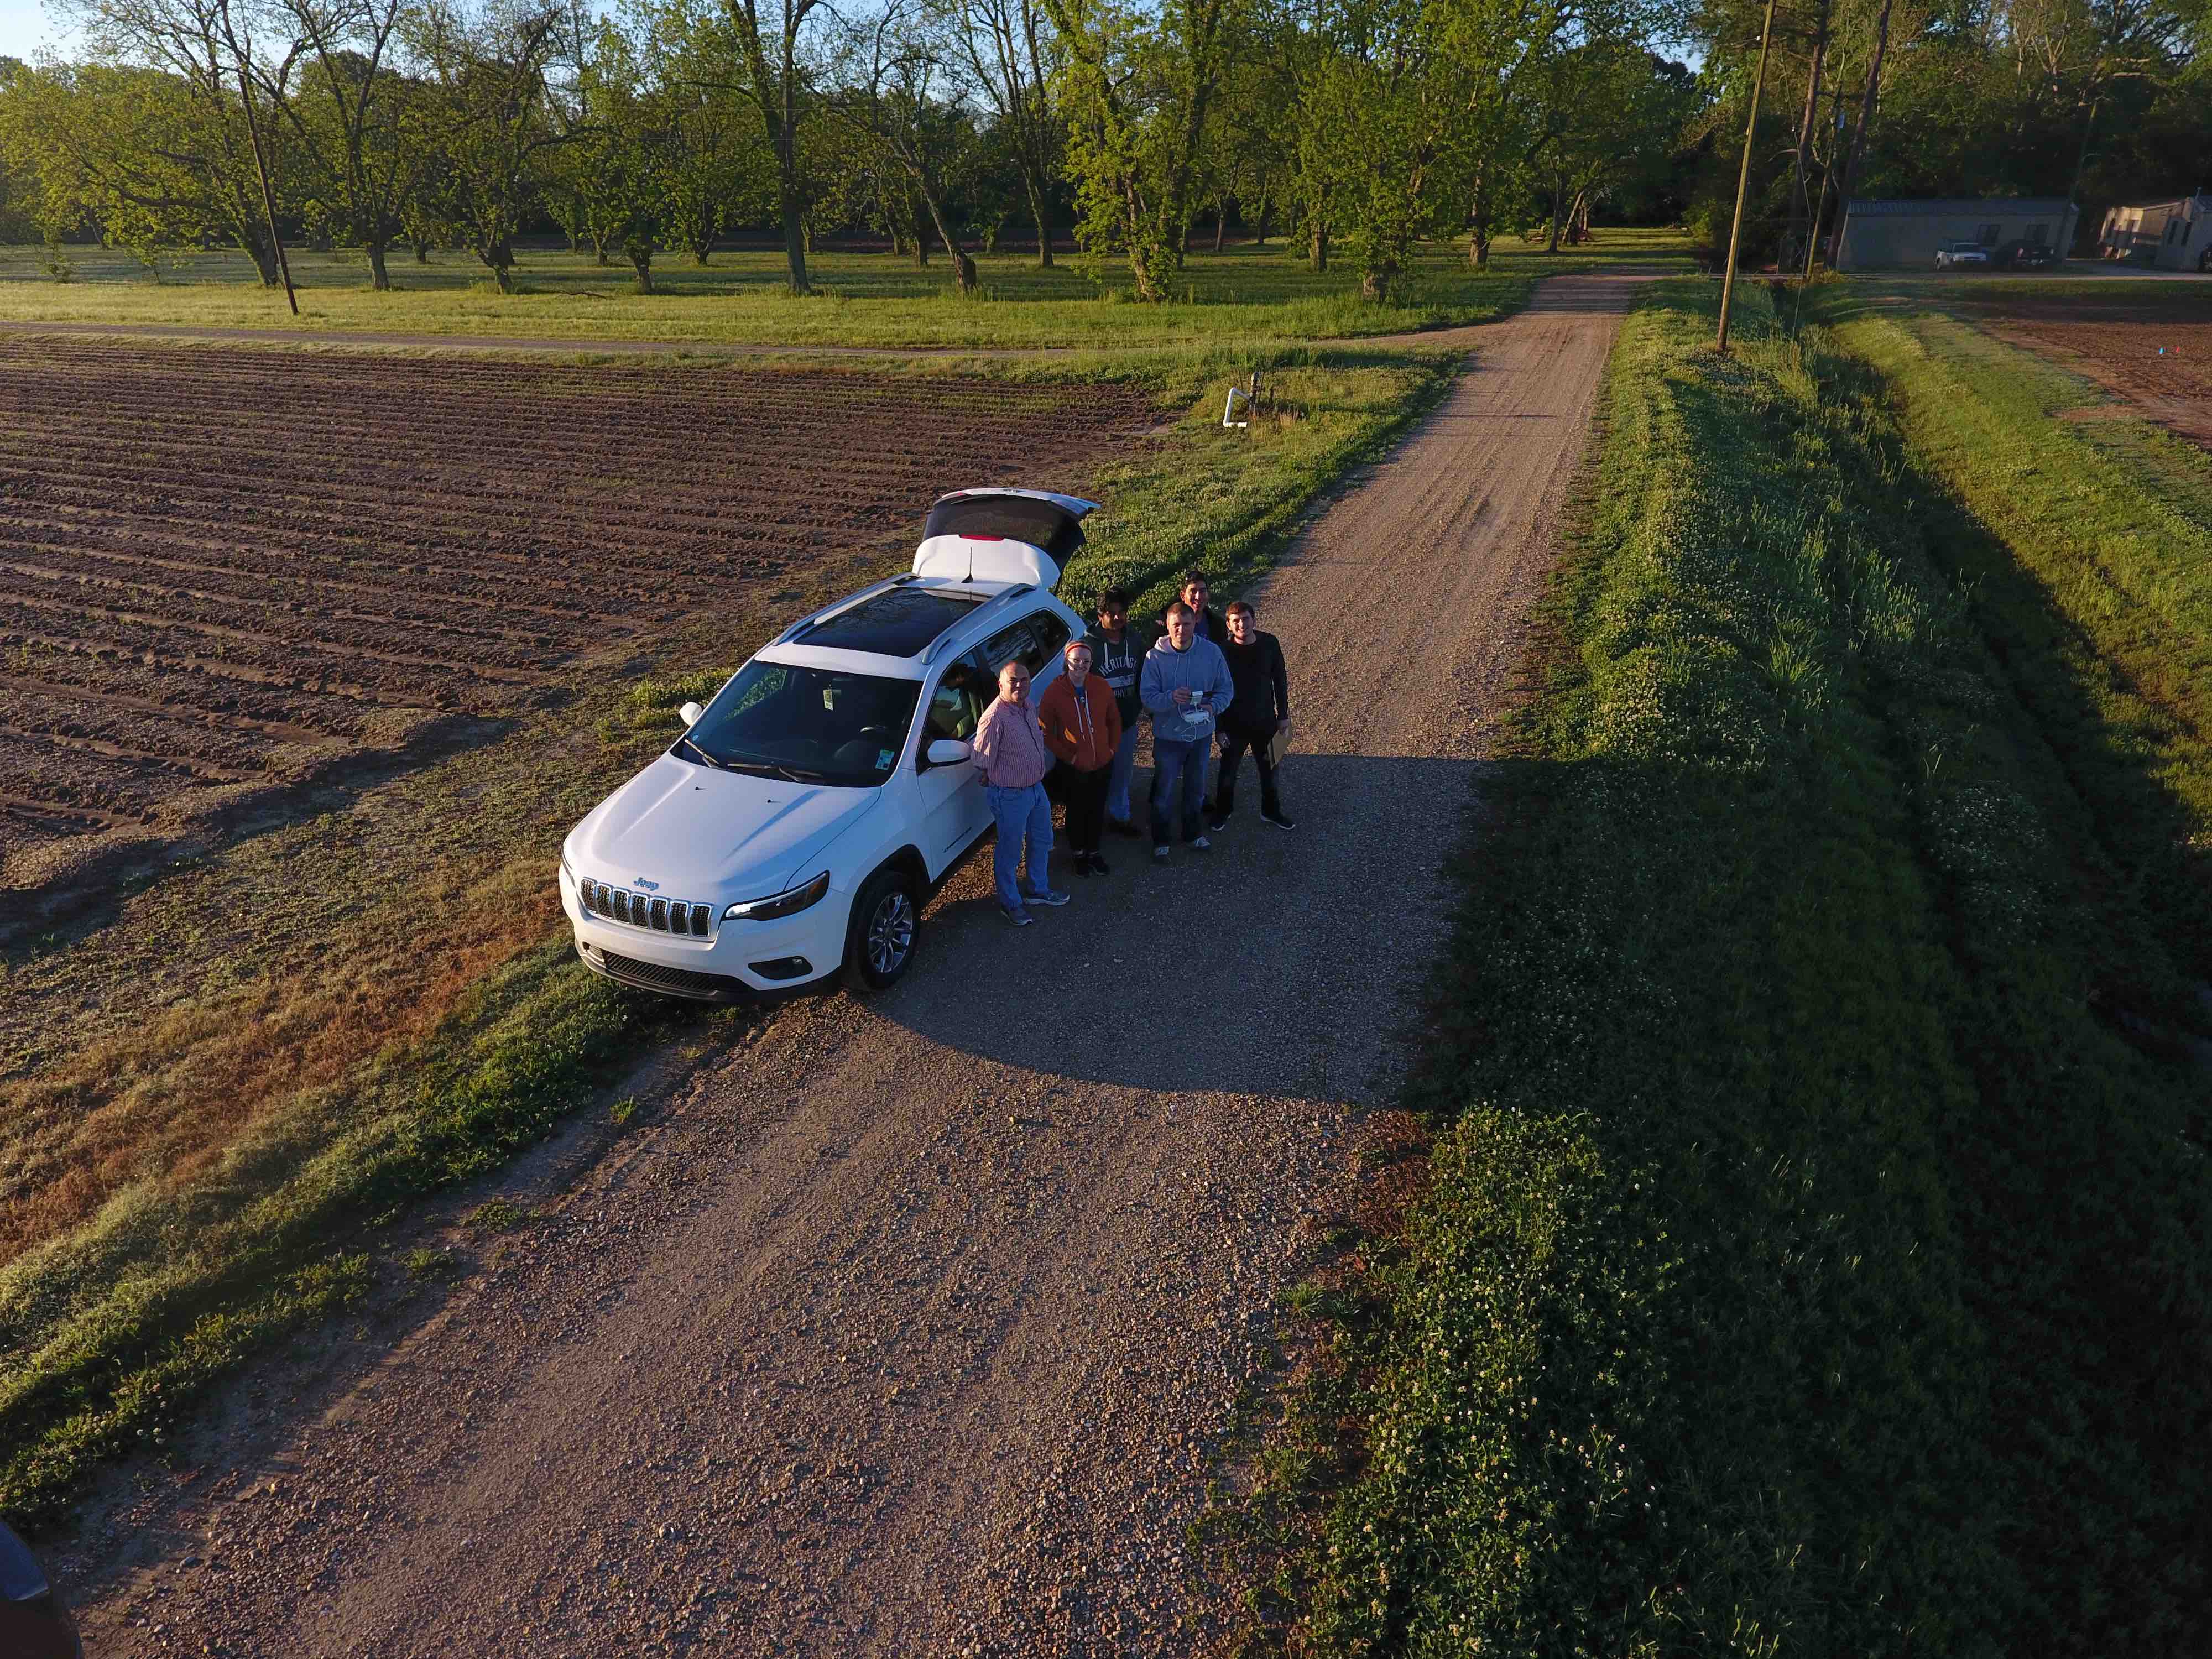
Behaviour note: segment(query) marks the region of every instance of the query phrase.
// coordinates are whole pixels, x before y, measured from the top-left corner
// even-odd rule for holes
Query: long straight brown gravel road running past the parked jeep
[[[1621,279],[1455,392],[1256,595],[1294,832],[1009,931],[969,867],[889,995],[785,1006],[312,1422],[80,1562],[88,1650],[1203,1652],[1186,1526],[1347,1201],[1444,929]],[[1135,852],[1135,856],[1133,856]]]

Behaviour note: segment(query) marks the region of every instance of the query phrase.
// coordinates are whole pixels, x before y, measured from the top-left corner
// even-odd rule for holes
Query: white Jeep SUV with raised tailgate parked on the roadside
[[[568,832],[560,898],[584,962],[737,1002],[847,969],[883,989],[922,902],[991,827],[969,754],[1006,659],[1037,692],[1084,619],[1053,588],[1097,502],[964,489],[914,573],[785,628],[686,732]]]

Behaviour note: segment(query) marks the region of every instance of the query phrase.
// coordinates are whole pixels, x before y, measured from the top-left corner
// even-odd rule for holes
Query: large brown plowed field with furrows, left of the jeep
[[[0,336],[0,880],[462,737],[1152,418],[1124,387]]]

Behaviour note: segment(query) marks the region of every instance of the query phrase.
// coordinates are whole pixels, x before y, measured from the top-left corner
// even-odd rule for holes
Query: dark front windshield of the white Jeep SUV
[[[670,754],[794,783],[874,790],[898,765],[920,681],[750,661]]]

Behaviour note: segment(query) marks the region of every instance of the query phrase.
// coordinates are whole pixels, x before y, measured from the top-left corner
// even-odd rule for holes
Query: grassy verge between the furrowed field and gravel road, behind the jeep
[[[1429,361],[1285,367],[1276,418],[1223,434],[1225,380],[1179,365],[1152,380],[1164,418],[1179,416],[1172,431],[1091,480],[1108,509],[1064,593],[1088,602],[1124,582],[1152,602],[1188,564],[1225,584],[1265,568],[1312,498],[1447,380]],[[787,604],[743,597],[759,635],[827,595],[774,597]],[[734,615],[717,622],[717,655]],[[726,670],[697,661],[241,843],[126,896],[69,949],[11,960],[0,1002],[27,1046],[0,1077],[9,1166],[33,1150],[64,1157],[66,1137],[97,1130],[100,1155],[137,1159],[142,1175],[0,1265],[0,1511],[60,1515],[102,1458],[159,1438],[259,1345],[394,1272],[387,1221],[409,1199],[495,1168],[681,1024],[748,1018],[690,1015],[593,980],[551,902],[566,823],[666,741],[686,677]],[[394,894],[372,878],[394,867],[431,874]],[[206,918],[241,891],[276,891],[283,918],[321,918],[323,931],[307,949],[292,927],[223,936],[197,995],[170,1006],[164,973],[208,956]],[[473,956],[418,962],[407,947],[425,900],[500,925]],[[111,1002],[93,1040],[58,1040],[93,987],[126,995],[139,978],[144,1006]],[[206,1121],[221,1137],[186,1141]]]

